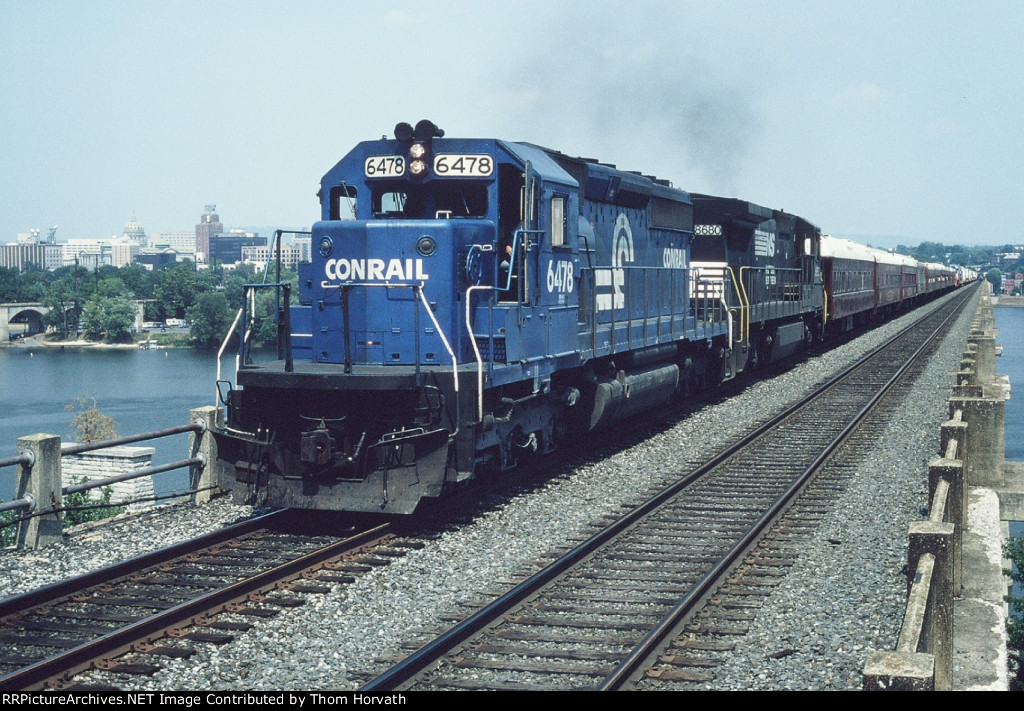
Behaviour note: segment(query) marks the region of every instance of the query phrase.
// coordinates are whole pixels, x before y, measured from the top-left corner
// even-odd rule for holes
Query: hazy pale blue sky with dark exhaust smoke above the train
[[[876,245],[1020,244],[1022,44],[1019,0],[0,0],[0,244],[308,226],[423,118]]]

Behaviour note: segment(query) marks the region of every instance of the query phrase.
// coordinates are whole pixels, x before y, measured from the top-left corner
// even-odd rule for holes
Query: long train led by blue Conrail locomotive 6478
[[[251,364],[242,339],[214,430],[240,501],[411,513],[963,278],[429,121],[356,145],[319,199],[279,360]]]

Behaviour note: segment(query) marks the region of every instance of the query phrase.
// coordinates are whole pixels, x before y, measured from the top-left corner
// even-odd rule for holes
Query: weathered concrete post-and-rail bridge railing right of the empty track
[[[894,651],[868,655],[865,691],[952,688],[953,600],[963,589],[968,486],[992,486],[1002,477],[1009,386],[1005,376],[995,374],[999,349],[987,294],[983,287],[955,373],[950,419],[941,426],[941,455],[929,462],[928,519],[910,524],[907,605],[899,641]]]

